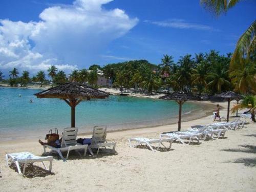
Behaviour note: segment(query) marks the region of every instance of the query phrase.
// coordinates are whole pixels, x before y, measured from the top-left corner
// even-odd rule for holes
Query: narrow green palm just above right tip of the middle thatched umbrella
[[[195,84],[197,86],[197,89],[199,91],[199,94],[202,93],[203,89],[206,87],[206,77],[208,73],[207,66],[204,62],[201,62],[197,65],[196,69],[193,69],[192,71],[192,84]]]

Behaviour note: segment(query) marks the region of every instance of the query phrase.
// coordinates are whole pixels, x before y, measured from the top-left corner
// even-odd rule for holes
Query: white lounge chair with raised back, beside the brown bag
[[[50,145],[44,145],[44,152],[46,153],[46,148],[50,148],[51,151],[55,151],[59,154],[60,158],[66,161],[69,157],[69,152],[75,150],[79,155],[81,155],[78,150],[84,150],[83,156],[86,156],[88,145],[80,145],[76,142],[78,129],[76,127],[66,128],[62,133],[62,141],[60,148],[56,148]],[[68,152],[66,159],[62,156],[61,152]]]

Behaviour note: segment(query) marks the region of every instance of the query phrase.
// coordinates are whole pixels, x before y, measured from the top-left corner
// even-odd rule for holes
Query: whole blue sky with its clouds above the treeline
[[[215,17],[199,0],[1,0],[0,71],[67,73],[93,64],[233,52],[256,18],[244,0]]]

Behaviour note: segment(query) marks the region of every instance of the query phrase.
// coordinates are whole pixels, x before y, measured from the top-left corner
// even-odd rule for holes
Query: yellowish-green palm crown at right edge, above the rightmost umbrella
[[[232,71],[229,76],[234,84],[234,91],[239,93],[256,93],[256,64],[248,59],[243,59],[238,69]]]

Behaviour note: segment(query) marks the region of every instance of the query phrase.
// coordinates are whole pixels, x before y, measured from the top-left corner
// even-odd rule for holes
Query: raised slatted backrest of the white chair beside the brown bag
[[[76,127],[64,129],[62,133],[61,147],[76,145],[77,132],[78,132],[78,129]]]

